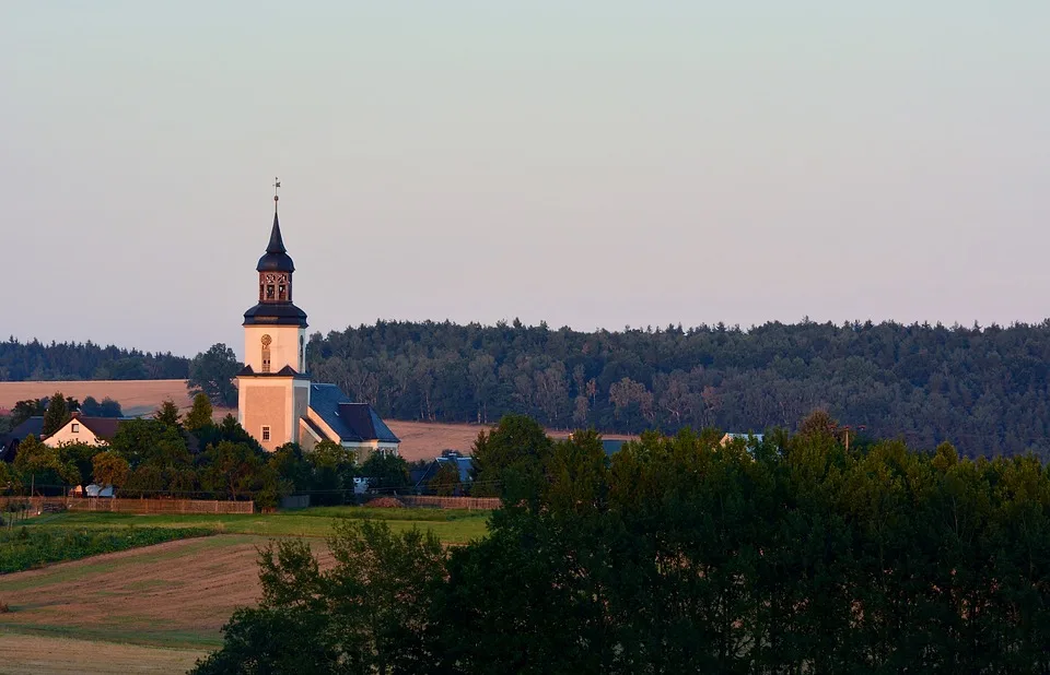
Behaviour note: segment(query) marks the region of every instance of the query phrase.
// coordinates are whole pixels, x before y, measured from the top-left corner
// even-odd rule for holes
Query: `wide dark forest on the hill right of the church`
[[[873,436],[1050,457],[1050,322],[767,323],[621,332],[378,321],[307,352],[314,379],[397,419],[761,431],[824,408]]]

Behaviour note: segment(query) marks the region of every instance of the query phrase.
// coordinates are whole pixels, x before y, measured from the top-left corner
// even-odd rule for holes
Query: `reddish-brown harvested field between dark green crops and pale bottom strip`
[[[217,535],[7,575],[0,597],[11,612],[0,615],[0,630],[214,649],[233,609],[257,600],[256,547],[266,541]]]

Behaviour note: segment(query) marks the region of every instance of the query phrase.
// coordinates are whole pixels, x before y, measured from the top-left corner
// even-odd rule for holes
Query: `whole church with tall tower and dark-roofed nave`
[[[275,182],[279,188],[280,182]],[[237,421],[267,451],[287,442],[312,450],[329,440],[357,452],[397,454],[400,441],[371,405],[306,372],[306,312],[292,301],[292,263],[277,214],[259,258],[259,301],[244,312],[244,368],[237,374]]]

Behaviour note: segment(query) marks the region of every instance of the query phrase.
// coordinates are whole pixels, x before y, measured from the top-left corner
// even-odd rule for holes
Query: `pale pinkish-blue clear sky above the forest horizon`
[[[1050,316],[1046,0],[0,3],[5,338]]]

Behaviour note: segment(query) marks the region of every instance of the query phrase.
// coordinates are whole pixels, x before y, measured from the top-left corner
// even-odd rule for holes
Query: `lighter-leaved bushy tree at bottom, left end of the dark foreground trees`
[[[308,544],[260,553],[258,607],[238,609],[223,647],[195,675],[423,673],[434,665],[433,603],[445,552],[430,532],[394,533],[384,522],[340,521],[322,570]]]

